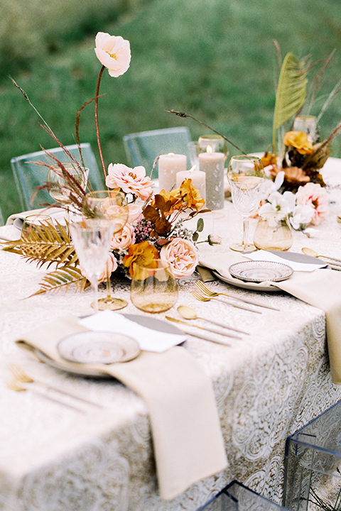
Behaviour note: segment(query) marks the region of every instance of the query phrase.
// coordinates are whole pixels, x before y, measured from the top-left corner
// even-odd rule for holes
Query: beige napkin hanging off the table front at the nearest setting
[[[88,365],[64,360],[58,342],[80,331],[87,329],[69,315],[28,332],[16,343],[42,351],[65,370],[91,368],[112,375],[144,398],[161,498],[172,500],[190,485],[227,468],[212,383],[185,348],[142,351],[125,363]]]

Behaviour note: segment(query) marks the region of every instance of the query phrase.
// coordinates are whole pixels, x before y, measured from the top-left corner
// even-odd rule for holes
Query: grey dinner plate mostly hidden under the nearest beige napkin
[[[183,335],[183,331],[179,330],[176,326],[170,323],[166,323],[162,321],[161,319],[148,317],[148,316],[139,316],[138,314],[124,314],[124,316],[127,319],[130,319],[131,321],[134,321],[135,323],[140,324],[141,326],[146,326],[146,328],[166,332],[168,334],[176,334],[176,335]],[[43,353],[42,351],[36,349],[35,350],[36,356],[38,358],[47,363],[49,366],[52,366],[55,369],[63,370],[67,373],[73,374],[73,375],[79,375],[79,376],[87,376],[91,378],[110,378],[112,379],[112,376],[102,373],[101,371],[94,370],[91,368],[65,368],[62,364],[58,363],[57,361],[52,360],[52,358],[48,357]]]

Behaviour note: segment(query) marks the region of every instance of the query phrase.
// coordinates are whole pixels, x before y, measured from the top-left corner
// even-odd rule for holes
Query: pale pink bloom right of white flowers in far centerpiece
[[[317,183],[309,182],[298,188],[296,204],[313,208],[311,224],[320,224],[329,214],[327,190]]]

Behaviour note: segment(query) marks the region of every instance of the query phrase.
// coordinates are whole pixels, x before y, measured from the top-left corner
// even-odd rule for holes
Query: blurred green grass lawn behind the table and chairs
[[[247,152],[271,143],[278,58],[289,51],[325,59],[336,48],[321,93],[341,78],[340,0],[1,0],[0,204],[18,211],[9,160],[55,146],[37,114],[13,86],[26,91],[65,145],[75,143],[75,116],[94,97],[100,64],[97,31],[131,43],[131,67],[119,78],[104,72],[99,128],[104,160],[126,163],[126,133],[188,126],[192,138],[210,133],[186,111]],[[318,67],[315,67],[316,71]],[[311,75],[314,74],[314,70]],[[320,103],[321,106],[321,103]],[[319,105],[316,105],[318,112]],[[328,136],[341,120],[338,97],[321,120]],[[82,111],[82,142],[97,155],[93,104]],[[230,148],[230,154],[236,151]],[[341,157],[341,137],[332,155]]]

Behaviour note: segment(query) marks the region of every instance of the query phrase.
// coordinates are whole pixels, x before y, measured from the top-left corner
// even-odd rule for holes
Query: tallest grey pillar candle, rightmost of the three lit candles
[[[206,207],[215,211],[224,207],[224,154],[200,153],[200,170],[206,174]]]

